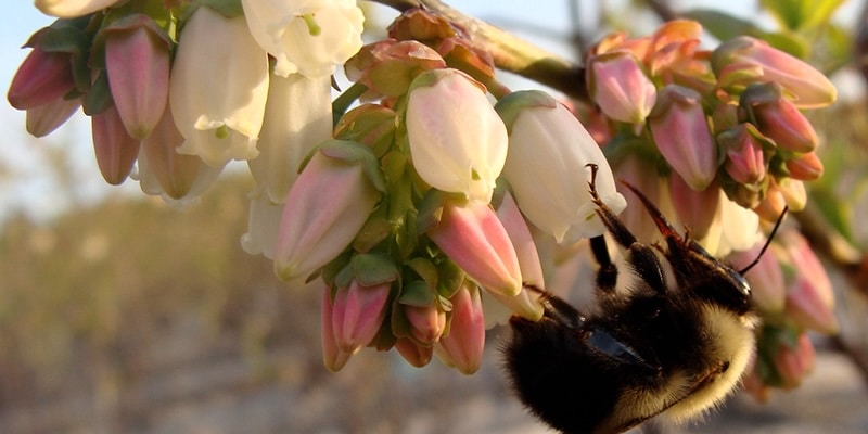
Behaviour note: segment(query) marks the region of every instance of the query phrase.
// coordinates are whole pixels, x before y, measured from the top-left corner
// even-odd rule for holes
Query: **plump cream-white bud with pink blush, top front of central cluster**
[[[507,128],[478,82],[458,69],[417,77],[407,101],[413,167],[431,187],[489,202],[507,158]]]

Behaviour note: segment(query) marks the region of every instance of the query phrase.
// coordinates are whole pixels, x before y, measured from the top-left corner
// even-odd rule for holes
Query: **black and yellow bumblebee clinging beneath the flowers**
[[[634,189],[665,248],[639,243],[590,187],[598,215],[640,279],[616,292],[618,269],[605,240],[592,239],[597,309],[585,315],[542,292],[541,320],[513,317],[505,349],[513,387],[532,412],[565,433],[617,433],[664,412],[676,421],[702,413],[729,394],[751,357],[750,289]]]

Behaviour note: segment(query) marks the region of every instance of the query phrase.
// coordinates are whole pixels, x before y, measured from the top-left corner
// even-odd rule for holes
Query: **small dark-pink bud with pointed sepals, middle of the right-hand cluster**
[[[770,143],[752,124],[737,127],[717,135],[717,142],[725,150],[726,173],[739,183],[753,184],[766,176],[767,161],[774,143]],[[765,151],[768,148],[769,151]]]

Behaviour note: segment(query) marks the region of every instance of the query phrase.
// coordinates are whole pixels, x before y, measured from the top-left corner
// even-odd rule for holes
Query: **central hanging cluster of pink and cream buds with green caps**
[[[460,29],[416,10],[390,37],[347,62],[365,103],[290,189],[275,265],[283,278],[326,282],[330,369],[370,346],[472,373],[486,328],[542,316],[528,290],[545,288],[531,226],[571,243],[604,231],[589,163],[602,200],[616,210],[626,201],[576,117],[544,92],[505,91]],[[341,162],[326,170],[326,159]]]

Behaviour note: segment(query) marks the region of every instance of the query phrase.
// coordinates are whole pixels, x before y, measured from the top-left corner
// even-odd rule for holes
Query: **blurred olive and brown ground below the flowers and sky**
[[[239,247],[247,187],[226,181],[186,210],[118,200],[51,226],[11,221],[0,433],[548,432],[505,388],[505,330],[472,376],[372,350],[326,371],[318,292],[286,288]],[[865,339],[858,297],[840,301],[855,309],[845,332]],[[865,378],[819,344],[802,387],[767,405],[738,396],[707,423],[659,432],[868,432]]]

